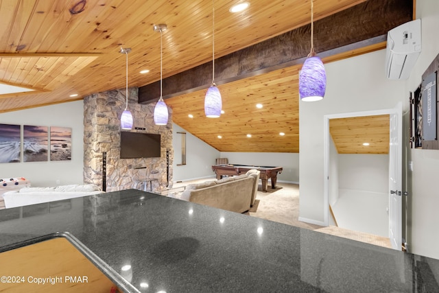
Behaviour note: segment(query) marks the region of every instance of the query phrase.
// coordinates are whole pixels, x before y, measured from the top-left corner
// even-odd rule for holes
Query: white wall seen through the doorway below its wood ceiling
[[[337,154],[340,227],[389,237],[389,155]]]

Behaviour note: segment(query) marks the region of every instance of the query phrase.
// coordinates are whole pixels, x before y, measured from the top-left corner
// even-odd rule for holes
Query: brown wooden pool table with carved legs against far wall
[[[233,176],[246,174],[250,169],[257,169],[261,174],[259,178],[262,181],[262,191],[267,192],[268,179],[271,178],[272,189],[276,188],[277,174],[282,173],[282,167],[267,167],[267,166],[252,166],[252,165],[236,165],[236,164],[223,164],[213,165],[213,172],[217,174],[217,179],[221,179],[222,176]]]

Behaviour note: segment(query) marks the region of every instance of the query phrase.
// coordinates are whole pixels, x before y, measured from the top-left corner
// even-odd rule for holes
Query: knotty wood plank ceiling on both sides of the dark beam
[[[248,10],[233,14],[229,8],[237,1],[215,1],[215,58],[309,25],[308,0],[249,2]],[[403,2],[410,6],[414,1]],[[374,3],[381,5],[377,0],[313,0],[314,20],[360,4],[366,10]],[[388,25],[412,17],[412,11],[402,19],[393,16],[393,7],[401,7],[401,1],[385,0],[385,4],[381,10],[385,13],[389,10]],[[36,0],[32,4],[23,0],[0,1],[0,83],[34,89],[28,93],[0,95],[0,113],[124,89],[126,59],[119,53],[121,47],[132,48],[128,55],[129,86],[156,83],[160,79],[160,34],[154,32],[153,25],[159,23],[168,27],[163,32],[163,78],[211,62],[212,1]],[[361,25],[366,31],[371,24]],[[309,38],[309,30],[303,31]],[[318,47],[319,40],[314,43]],[[323,54],[323,60],[331,62],[385,46],[383,40],[365,44],[353,50]],[[258,62],[263,62],[263,58]],[[217,150],[298,152],[300,67],[301,63],[297,62],[230,82],[215,80],[225,111],[219,119],[204,117],[202,101],[209,84],[204,89],[169,95],[165,101],[176,124]],[[150,72],[139,73],[143,69]],[[70,97],[72,94],[78,96]],[[263,108],[256,108],[256,102],[263,104]],[[189,114],[193,115],[192,119]],[[252,134],[251,139],[246,134]]]

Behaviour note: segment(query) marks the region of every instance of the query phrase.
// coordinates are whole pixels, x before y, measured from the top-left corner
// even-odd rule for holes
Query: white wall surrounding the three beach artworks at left
[[[0,113],[0,124],[60,126],[72,129],[71,161],[1,163],[0,178],[25,177],[32,186],[82,184],[84,169],[84,103],[56,104],[10,113]],[[57,183],[59,180],[59,184]]]

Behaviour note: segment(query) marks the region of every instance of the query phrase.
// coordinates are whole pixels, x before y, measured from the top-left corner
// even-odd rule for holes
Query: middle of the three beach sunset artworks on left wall
[[[47,126],[23,126],[23,162],[47,161]]]

